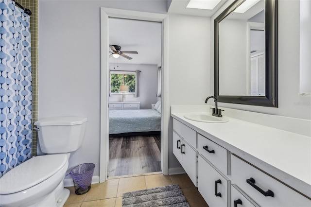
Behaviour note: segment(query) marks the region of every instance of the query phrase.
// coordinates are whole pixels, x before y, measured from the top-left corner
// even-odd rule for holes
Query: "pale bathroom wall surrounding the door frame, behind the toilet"
[[[39,4],[39,119],[87,117],[85,139],[72,153],[69,168],[92,162],[96,176],[100,165],[100,7],[164,13],[164,7],[156,4],[160,1],[121,2],[41,0]],[[165,78],[169,86],[164,90],[169,105],[203,104],[209,95],[210,19],[169,16],[168,42],[169,77]],[[171,142],[169,167],[179,167]]]

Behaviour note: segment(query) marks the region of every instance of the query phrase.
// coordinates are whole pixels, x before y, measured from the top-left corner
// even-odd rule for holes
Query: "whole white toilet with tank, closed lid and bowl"
[[[82,143],[87,119],[53,117],[35,122],[41,151],[0,178],[0,207],[62,207],[70,152]]]

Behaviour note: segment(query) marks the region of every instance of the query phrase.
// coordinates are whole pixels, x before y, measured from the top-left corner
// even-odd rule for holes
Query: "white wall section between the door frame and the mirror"
[[[209,94],[210,18],[169,15],[169,105],[201,105]],[[169,124],[169,168],[173,155]]]

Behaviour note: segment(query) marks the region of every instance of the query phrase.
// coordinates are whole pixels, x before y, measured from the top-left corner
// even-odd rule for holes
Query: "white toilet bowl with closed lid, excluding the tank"
[[[55,201],[46,202],[53,197],[56,203],[66,201],[64,193],[55,191],[59,185],[63,187],[63,180],[68,168],[70,154],[42,155],[33,157],[18,165],[0,179],[1,207],[56,207]],[[14,182],[12,182],[12,180]],[[2,188],[3,187],[3,188]],[[54,203],[54,205],[53,205]],[[59,205],[60,206],[60,205]]]

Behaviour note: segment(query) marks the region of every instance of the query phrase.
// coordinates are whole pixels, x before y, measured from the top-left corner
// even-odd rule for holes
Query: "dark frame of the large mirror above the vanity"
[[[245,0],[235,0],[214,20],[214,96],[218,102],[277,107],[277,0],[265,0],[266,96],[219,95],[219,23]]]

